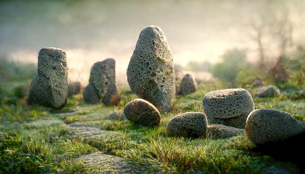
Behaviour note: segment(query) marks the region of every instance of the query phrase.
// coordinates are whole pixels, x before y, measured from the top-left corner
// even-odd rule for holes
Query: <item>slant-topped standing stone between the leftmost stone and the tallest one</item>
[[[115,84],[115,60],[108,58],[96,62],[90,72],[89,85],[83,92],[87,104],[97,104],[100,100],[105,105],[110,105],[112,98],[118,96]],[[92,99],[94,98],[94,100]],[[97,100],[95,100],[97,97]]]

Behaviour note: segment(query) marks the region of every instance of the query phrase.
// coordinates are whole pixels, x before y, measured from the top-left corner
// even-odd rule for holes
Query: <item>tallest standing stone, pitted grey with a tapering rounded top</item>
[[[175,95],[172,52],[163,31],[148,26],[141,31],[127,68],[131,90],[155,105],[160,112],[171,111]]]

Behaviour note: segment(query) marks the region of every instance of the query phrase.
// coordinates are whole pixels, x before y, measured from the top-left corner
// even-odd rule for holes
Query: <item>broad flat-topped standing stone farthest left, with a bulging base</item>
[[[38,53],[37,73],[29,89],[29,103],[60,108],[67,102],[68,65],[66,52],[43,48]]]

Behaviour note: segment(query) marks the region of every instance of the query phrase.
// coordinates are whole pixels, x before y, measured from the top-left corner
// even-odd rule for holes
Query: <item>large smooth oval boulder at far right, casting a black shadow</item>
[[[246,122],[246,136],[253,144],[281,141],[304,131],[305,123],[282,110],[253,110]]]

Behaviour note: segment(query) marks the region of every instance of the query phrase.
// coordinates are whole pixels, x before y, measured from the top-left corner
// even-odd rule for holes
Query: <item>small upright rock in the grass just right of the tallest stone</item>
[[[197,90],[197,82],[191,73],[187,73],[183,76],[180,90],[182,95],[188,95]]]

